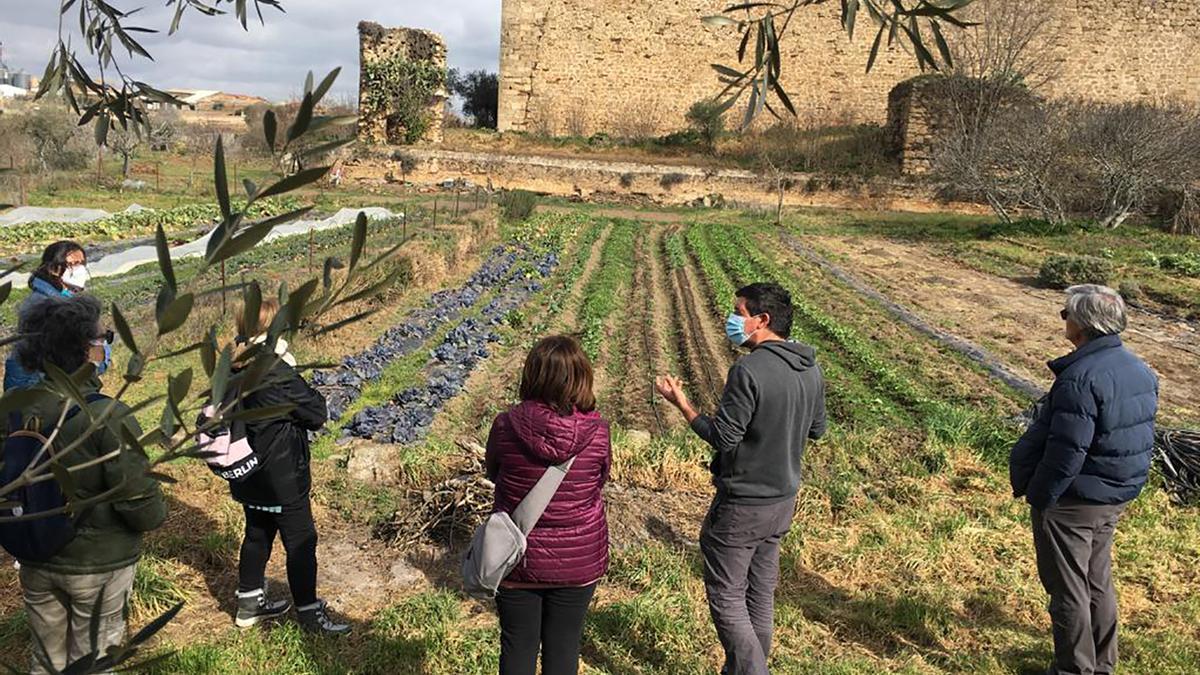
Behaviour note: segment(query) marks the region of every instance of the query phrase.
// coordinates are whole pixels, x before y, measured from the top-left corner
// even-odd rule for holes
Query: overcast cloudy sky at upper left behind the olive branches
[[[190,11],[170,38],[164,35],[170,25],[164,0],[108,1],[124,11],[145,7],[130,25],[162,31],[140,40],[155,61],[134,59],[126,71],[161,88],[284,100],[304,86],[308,70],[319,78],[342,66],[332,96],[355,96],[358,23],[364,19],[438,32],[454,67],[496,71],[499,64],[500,0],[282,0],[287,13],[264,8],[266,25],[256,20],[248,31],[233,16]],[[58,0],[0,0],[0,42],[11,68],[42,73],[54,46],[58,5]],[[78,31],[77,18],[74,25]]]

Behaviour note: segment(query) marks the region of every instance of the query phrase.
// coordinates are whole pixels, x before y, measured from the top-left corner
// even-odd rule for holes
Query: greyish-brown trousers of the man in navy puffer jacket
[[[1116,670],[1112,533],[1124,508],[1064,500],[1032,510],[1038,577],[1050,593],[1055,671],[1061,675]]]

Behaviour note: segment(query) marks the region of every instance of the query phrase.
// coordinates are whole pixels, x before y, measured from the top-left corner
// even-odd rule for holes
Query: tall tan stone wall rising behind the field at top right
[[[982,0],[988,1],[988,0]],[[733,28],[701,17],[728,0],[502,0],[502,131],[552,135],[662,133],[718,91],[712,62],[728,64]],[[1046,2],[1048,56],[1061,65],[1050,95],[1200,101],[1200,1]],[[851,42],[840,2],[802,8],[793,20],[784,84],[802,118],[817,124],[887,119],[888,92],[918,74],[914,59],[886,49],[864,68],[866,22]]]

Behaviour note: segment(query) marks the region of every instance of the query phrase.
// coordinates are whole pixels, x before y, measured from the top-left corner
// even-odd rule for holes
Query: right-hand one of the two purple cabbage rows
[[[383,405],[364,408],[346,426],[346,434],[397,444],[425,438],[437,413],[463,390],[475,368],[487,359],[488,346],[500,340],[499,327],[542,291],[544,280],[558,267],[556,251],[538,253],[526,244],[510,246],[526,264],[514,264],[511,274],[492,283],[498,289],[478,316],[468,316],[445,335],[431,352],[422,372],[425,382],[400,392]]]

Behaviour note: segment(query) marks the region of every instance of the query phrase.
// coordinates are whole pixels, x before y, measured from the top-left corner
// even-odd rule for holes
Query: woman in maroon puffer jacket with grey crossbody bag
[[[592,364],[574,338],[546,338],[526,358],[521,404],[492,423],[487,476],[496,510],[512,513],[546,470],[575,458],[500,585],[500,675],[575,675],[596,583],[608,569],[602,489],[612,448],[595,412]]]

